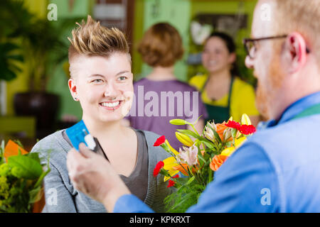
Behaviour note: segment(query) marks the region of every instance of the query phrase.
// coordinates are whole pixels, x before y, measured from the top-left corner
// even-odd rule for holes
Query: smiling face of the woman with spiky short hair
[[[86,124],[118,121],[127,114],[133,94],[127,53],[116,52],[109,57],[77,55],[71,60],[70,72],[70,92],[79,99]]]

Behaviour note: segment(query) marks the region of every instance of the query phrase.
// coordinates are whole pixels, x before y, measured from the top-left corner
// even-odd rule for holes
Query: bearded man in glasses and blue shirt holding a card
[[[319,0],[258,1],[245,63],[255,70],[257,107],[270,121],[225,161],[188,211],[320,211],[319,20]],[[75,187],[107,210],[151,211],[87,148],[71,150],[68,167]]]

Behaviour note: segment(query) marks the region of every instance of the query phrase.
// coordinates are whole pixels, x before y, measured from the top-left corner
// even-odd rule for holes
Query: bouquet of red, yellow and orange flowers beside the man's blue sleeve
[[[154,143],[171,154],[154,168],[154,177],[164,175],[164,181],[169,180],[167,187],[176,187],[176,191],[164,199],[168,212],[184,212],[196,204],[203,190],[213,181],[214,172],[256,131],[247,114],[242,115],[241,123],[233,121],[232,117],[223,123],[208,121],[201,134],[194,128],[196,122],[170,121],[174,125],[188,124],[193,128],[193,131],[177,129],[176,138],[184,145],[179,151],[171,147],[164,135]]]

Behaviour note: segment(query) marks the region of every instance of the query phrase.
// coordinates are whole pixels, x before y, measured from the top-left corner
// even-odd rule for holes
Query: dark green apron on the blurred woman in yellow
[[[230,118],[230,100],[231,100],[231,94],[233,89],[233,80],[234,80],[234,77],[231,77],[229,94],[228,94],[228,106],[215,106],[215,105],[206,104],[206,109],[208,112],[208,118],[205,119],[206,122],[214,120],[215,123],[223,123],[223,121],[228,121],[228,119]],[[208,79],[201,89],[201,94],[203,93],[207,82],[208,82]]]

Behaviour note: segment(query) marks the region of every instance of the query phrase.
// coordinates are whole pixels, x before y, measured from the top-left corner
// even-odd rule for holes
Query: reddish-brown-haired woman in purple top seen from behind
[[[152,67],[152,71],[145,78],[134,83],[136,101],[133,103],[132,110],[136,110],[136,113],[130,111],[127,125],[165,135],[171,146],[178,149],[181,143],[176,139],[176,129],[191,128],[190,126],[174,126],[169,121],[174,118],[182,118],[192,122],[202,115],[195,126],[196,130],[201,133],[204,118],[207,117],[206,107],[197,90],[185,82],[178,81],[174,74],[174,64],[183,56],[181,36],[169,23],[156,23],[144,34],[138,51],[142,55],[142,60]],[[151,109],[153,114],[146,113],[148,110],[146,101],[144,104],[138,103],[139,100],[144,99],[139,96],[139,91],[142,89],[144,94],[151,92],[149,94],[159,97],[157,100],[159,109]],[[166,100],[163,99],[164,94],[166,94]],[[188,95],[185,96],[185,94]],[[171,104],[168,100],[171,100]],[[140,113],[143,111],[144,116],[141,114],[138,116],[139,111]]]

